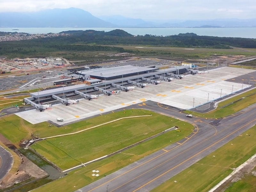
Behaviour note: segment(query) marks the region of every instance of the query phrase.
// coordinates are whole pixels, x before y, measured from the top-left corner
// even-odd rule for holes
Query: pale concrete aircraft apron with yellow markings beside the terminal
[[[182,109],[189,109],[216,100],[232,92],[249,87],[248,84],[226,81],[234,77],[252,72],[250,69],[218,68],[209,73],[187,75],[182,79],[161,84],[148,84],[145,88],[135,88],[129,92],[116,95],[102,95],[93,100],[79,100],[79,103],[65,106],[53,105],[44,112],[33,109],[17,113],[16,115],[32,124],[52,121],[57,124],[67,124],[93,115],[124,108],[128,105],[140,107],[143,101],[152,100]],[[56,118],[63,118],[57,122]]]

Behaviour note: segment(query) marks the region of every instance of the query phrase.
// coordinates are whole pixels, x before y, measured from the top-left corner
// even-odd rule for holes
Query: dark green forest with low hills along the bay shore
[[[124,49],[120,45],[217,48],[223,50],[233,49],[232,47],[256,48],[256,39],[198,36],[194,33],[172,36],[133,36],[120,29],[109,32],[77,30],[63,31],[61,33],[70,35],[0,42],[0,56],[8,58],[60,56],[67,59],[95,60],[92,55],[97,55],[98,60],[105,60],[108,56],[104,55],[104,53],[109,52],[128,52],[137,56],[150,54],[150,52]],[[99,52],[103,53],[103,55],[98,55]],[[169,54],[169,52],[162,53]]]

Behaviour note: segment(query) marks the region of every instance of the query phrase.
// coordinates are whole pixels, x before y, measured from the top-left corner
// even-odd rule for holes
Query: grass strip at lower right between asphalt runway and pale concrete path
[[[152,192],[209,191],[227,177],[233,171],[232,168],[238,167],[256,153],[255,140],[256,126],[166,181]]]

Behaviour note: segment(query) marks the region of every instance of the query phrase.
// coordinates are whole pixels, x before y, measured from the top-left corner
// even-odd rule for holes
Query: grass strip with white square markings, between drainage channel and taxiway
[[[115,172],[128,164],[136,162],[145,156],[148,156],[172,143],[179,141],[193,131],[193,126],[191,124],[179,122],[178,125],[180,126],[181,132],[166,132],[165,134],[159,135],[156,138],[129,148],[122,153],[118,153],[114,156],[108,157],[107,159],[103,159],[99,162],[95,162],[87,165],[86,167],[72,171],[68,173],[67,176],[48,183],[40,188],[34,189],[33,191],[53,192],[58,189],[59,191],[71,192],[88,185],[93,181],[104,177],[105,174],[109,175],[110,173]],[[92,170],[100,170],[100,176],[93,177]]]

